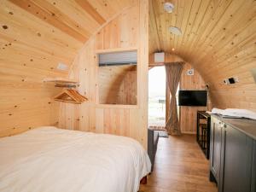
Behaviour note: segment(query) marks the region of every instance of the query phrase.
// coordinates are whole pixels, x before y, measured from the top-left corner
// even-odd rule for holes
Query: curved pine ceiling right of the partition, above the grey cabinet
[[[165,12],[165,2],[149,0],[149,52],[173,53],[193,64],[210,84],[215,106],[256,110],[250,73],[256,68],[256,1],[170,0],[172,14]],[[170,26],[182,35],[170,33]],[[239,83],[225,85],[230,77]]]

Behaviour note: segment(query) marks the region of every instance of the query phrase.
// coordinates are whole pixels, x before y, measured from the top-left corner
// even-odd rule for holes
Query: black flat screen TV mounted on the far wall
[[[179,106],[207,106],[207,90],[179,90]]]

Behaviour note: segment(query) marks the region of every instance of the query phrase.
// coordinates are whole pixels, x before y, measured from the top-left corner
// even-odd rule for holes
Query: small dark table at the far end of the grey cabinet
[[[197,111],[196,142],[209,160],[210,154],[211,115],[205,111]]]

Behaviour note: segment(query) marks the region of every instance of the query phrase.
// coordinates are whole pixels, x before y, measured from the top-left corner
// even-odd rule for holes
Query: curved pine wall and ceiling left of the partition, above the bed
[[[52,98],[61,89],[44,79],[67,78],[85,41],[132,4],[134,0],[0,1],[0,137],[58,124],[60,103]],[[66,71],[57,69],[59,62],[67,65]]]

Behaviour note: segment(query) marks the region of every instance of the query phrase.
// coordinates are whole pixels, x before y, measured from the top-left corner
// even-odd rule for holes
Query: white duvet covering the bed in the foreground
[[[129,137],[40,127],[0,138],[1,192],[137,192],[150,167]]]

